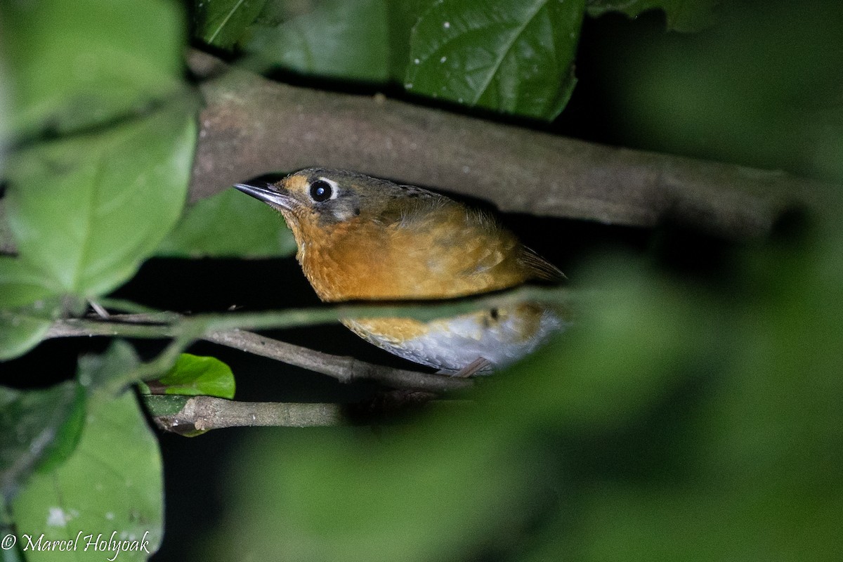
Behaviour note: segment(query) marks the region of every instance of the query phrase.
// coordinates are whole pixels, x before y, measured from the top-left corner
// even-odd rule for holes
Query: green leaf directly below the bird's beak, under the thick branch
[[[271,258],[296,251],[277,211],[237,190],[202,199],[182,217],[156,254],[185,258]]]

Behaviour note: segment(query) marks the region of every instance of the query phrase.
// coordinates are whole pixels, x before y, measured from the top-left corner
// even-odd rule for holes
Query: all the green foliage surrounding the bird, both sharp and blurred
[[[81,316],[154,255],[292,253],[277,215],[234,191],[185,208],[199,105],[182,78],[187,22],[193,40],[252,67],[550,121],[576,82],[583,17],[652,8],[671,29],[713,23],[709,0],[196,0],[189,18],[165,0],[3,0],[0,221],[17,252],[0,256],[0,359],[30,351],[56,318]],[[640,135],[631,142],[843,179],[839,26],[834,13],[794,10],[745,28],[752,19],[732,12],[690,59],[674,51],[660,65],[648,52],[628,64],[613,91]],[[826,48],[797,48],[808,35]],[[801,96],[813,110],[787,110]],[[796,160],[793,138],[805,141]],[[378,436],[261,432],[230,467],[223,522],[196,558],[839,559],[840,198],[808,195],[827,202],[823,213],[799,235],[734,251],[728,291],[626,257],[595,263],[580,278],[603,290],[577,328],[479,385],[474,408]],[[291,313],[284,325],[333,317]],[[0,387],[3,531],[149,532],[154,552],[160,455],[126,387],[157,380],[231,398],[228,367],[182,354],[238,322],[206,320],[168,324],[174,340],[148,362],[117,341],[80,358],[76,380]]]

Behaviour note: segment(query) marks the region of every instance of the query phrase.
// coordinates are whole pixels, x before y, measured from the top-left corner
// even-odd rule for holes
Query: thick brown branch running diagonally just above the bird
[[[818,185],[778,172],[606,147],[383,96],[276,83],[193,51],[206,107],[191,199],[260,174],[355,169],[495,203],[502,211],[652,227],[670,218],[726,238],[765,234]]]

